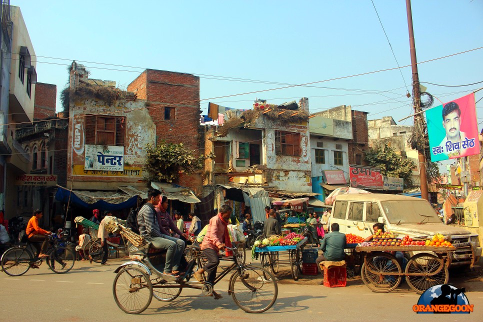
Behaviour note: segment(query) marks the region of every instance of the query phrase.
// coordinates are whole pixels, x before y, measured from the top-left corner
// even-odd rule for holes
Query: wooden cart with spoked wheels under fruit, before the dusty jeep
[[[454,248],[433,246],[355,247],[355,251],[363,256],[360,271],[362,281],[372,291],[379,293],[394,290],[403,276],[407,284],[419,294],[431,286],[447,283],[452,250]],[[404,271],[391,251],[413,253]]]

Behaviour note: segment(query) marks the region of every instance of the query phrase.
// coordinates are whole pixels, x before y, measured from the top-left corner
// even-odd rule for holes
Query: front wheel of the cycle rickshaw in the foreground
[[[266,269],[245,266],[240,274],[230,278],[229,293],[239,308],[248,313],[261,313],[269,309],[278,295],[275,277]],[[263,276],[269,276],[264,278]]]

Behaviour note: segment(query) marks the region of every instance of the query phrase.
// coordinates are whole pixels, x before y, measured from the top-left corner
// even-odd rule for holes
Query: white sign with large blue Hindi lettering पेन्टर
[[[124,171],[124,146],[85,144],[84,170]]]

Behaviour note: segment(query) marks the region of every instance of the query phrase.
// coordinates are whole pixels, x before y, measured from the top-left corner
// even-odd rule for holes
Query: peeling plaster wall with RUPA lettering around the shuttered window
[[[145,100],[118,100],[111,106],[106,106],[102,100],[97,99],[71,100],[70,116],[73,118],[69,120],[68,129],[67,182],[73,183],[73,189],[110,190],[120,184],[144,184],[142,166],[145,163],[145,146],[147,143],[154,144],[155,124],[148,110],[143,107],[145,107]],[[124,162],[127,164],[124,165],[124,172],[84,171],[85,118],[76,116],[107,112],[110,112],[108,115],[126,117]],[[78,128],[81,128],[81,148],[74,148],[74,131]],[[77,134],[79,134],[78,131]]]

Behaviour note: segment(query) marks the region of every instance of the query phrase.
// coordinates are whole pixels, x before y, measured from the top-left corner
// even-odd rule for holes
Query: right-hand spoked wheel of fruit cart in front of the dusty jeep
[[[438,269],[440,269],[439,272],[434,274]],[[448,268],[444,261],[428,253],[418,253],[412,256],[407,262],[405,273],[421,274],[406,276],[407,284],[418,294],[422,294],[431,286],[446,284],[449,279]]]

